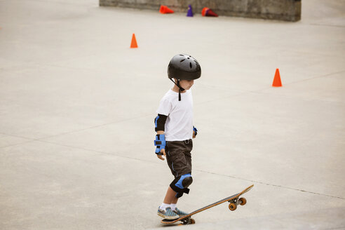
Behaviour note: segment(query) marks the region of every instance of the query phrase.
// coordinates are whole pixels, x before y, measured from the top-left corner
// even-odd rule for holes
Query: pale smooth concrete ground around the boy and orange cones
[[[345,229],[344,37],[345,1],[303,0],[293,23],[0,0],[0,229],[163,227],[154,117],[177,53],[202,67],[180,209],[255,184],[184,227]]]

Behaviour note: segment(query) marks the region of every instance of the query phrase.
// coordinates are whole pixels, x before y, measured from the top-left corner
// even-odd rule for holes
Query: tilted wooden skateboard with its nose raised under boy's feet
[[[220,201],[217,201],[215,203],[212,203],[210,205],[207,205],[203,208],[200,208],[198,210],[195,210],[194,212],[191,212],[187,215],[184,215],[178,219],[162,219],[161,223],[162,224],[174,224],[178,221],[182,222],[182,224],[195,224],[195,220],[193,218],[191,218],[192,215],[195,215],[198,212],[202,212],[203,210],[207,210],[209,208],[215,207],[216,205],[220,205],[221,203],[224,203],[226,201],[228,201],[229,204],[229,210],[234,211],[237,208],[237,205],[245,205],[245,203],[247,203],[247,200],[244,197],[239,198],[241,195],[245,194],[247,191],[249,191],[250,189],[252,189],[252,187],[254,186],[254,184],[250,185],[250,187],[248,187],[247,189],[244,189],[243,191],[241,191],[238,194],[226,197]]]

